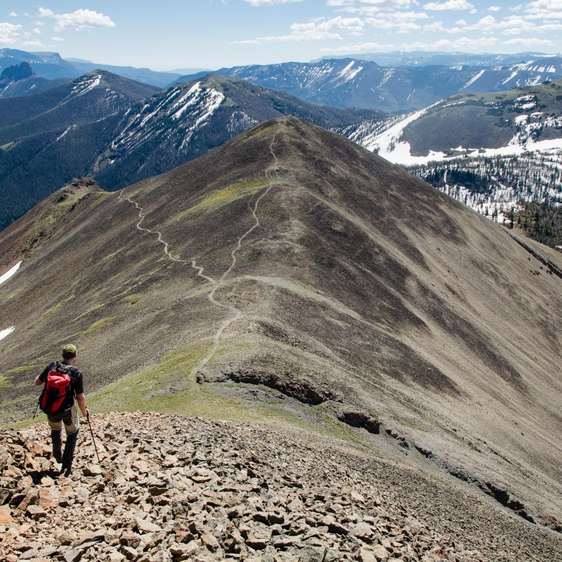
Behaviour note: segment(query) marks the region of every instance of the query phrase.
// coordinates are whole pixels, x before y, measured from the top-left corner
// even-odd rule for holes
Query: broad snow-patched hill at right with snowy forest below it
[[[339,131],[499,222],[521,201],[562,204],[562,80]]]

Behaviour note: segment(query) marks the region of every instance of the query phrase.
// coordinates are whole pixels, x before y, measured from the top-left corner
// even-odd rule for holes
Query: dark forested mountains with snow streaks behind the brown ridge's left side
[[[288,114],[326,128],[384,117],[214,75],[161,91],[96,71],[35,96],[0,100],[0,228],[72,178],[122,188]]]

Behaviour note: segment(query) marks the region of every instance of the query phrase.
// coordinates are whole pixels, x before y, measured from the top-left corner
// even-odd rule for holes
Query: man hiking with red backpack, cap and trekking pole
[[[73,344],[63,347],[63,360],[55,361],[47,365],[43,372],[35,379],[35,386],[45,384],[39,405],[41,410],[47,414],[48,425],[51,428],[51,439],[53,440],[53,457],[58,463],[62,463],[60,473],[70,476],[72,473],[72,459],[79,432],[78,412],[74,398],[80,407],[83,416],[89,416],[84,396],[84,381],[81,372],[74,367],[77,349]],[[62,375],[61,375],[62,373]],[[67,374],[70,377],[70,384]],[[58,383],[56,382],[58,381]],[[55,386],[59,384],[62,390]],[[51,390],[54,388],[54,391]],[[54,397],[54,398],[53,398]],[[65,424],[66,443],[63,452],[63,423]]]

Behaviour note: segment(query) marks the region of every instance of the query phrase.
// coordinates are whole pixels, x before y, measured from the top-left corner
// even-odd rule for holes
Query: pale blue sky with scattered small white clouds
[[[562,0],[0,2],[0,48],[176,68],[387,51],[562,51]]]

